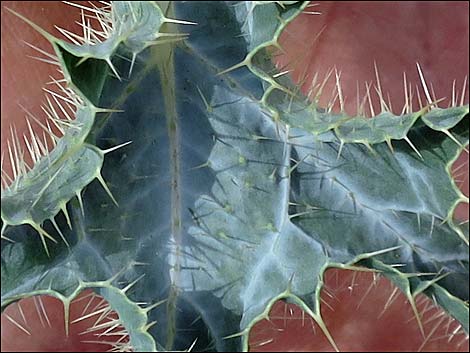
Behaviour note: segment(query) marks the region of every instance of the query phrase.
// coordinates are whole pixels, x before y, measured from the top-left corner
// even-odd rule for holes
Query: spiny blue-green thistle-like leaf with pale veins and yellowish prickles
[[[24,149],[12,129],[6,151],[2,309],[53,296],[68,331],[91,289],[107,304],[90,330],[125,330],[115,349],[227,351],[247,350],[284,299],[339,349],[320,310],[339,268],[390,279],[423,335],[421,294],[468,333],[468,224],[454,220],[468,198],[450,174],[468,145],[464,96],[440,107],[418,65],[418,107],[405,82],[392,112],[377,73],[380,111],[368,90],[348,115],[337,72],[321,107],[328,77],[303,94],[273,61],[308,6],[113,2],[69,41],[15,13],[61,77],[48,123],[26,111],[44,133],[30,128]]]

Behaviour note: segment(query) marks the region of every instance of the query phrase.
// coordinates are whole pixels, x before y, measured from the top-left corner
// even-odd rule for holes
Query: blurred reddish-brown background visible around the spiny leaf
[[[14,123],[18,131],[25,128],[24,113],[18,103],[41,116],[39,105],[43,100],[41,87],[54,74],[55,68],[27,58],[26,55],[38,55],[24,45],[21,40],[36,46],[49,49],[47,43],[26,24],[5,11],[10,7],[35,21],[44,29],[54,33],[53,25],[79,31],[73,22],[79,19],[79,11],[59,2],[2,2],[1,9],[1,138],[2,151],[8,138],[8,127]],[[405,71],[412,83],[419,83],[415,63],[419,61],[428,82],[432,82],[436,95],[450,96],[452,80],[456,79],[461,90],[463,78],[469,67],[469,5],[468,2],[319,2],[310,10],[321,11],[323,15],[303,15],[283,37],[287,55],[281,57],[281,63],[292,62],[306,56],[298,65],[294,75],[301,75],[304,68],[307,72],[318,71],[324,74],[332,66],[342,72],[341,81],[347,98],[347,109],[352,105],[356,95],[356,81],[361,84],[374,80],[373,63],[377,62],[382,85],[390,92],[395,110],[403,104],[402,72]],[[324,28],[321,36],[313,44],[313,39]],[[57,33],[57,32],[55,32]],[[332,90],[332,84],[326,91]],[[364,86],[362,84],[362,94]],[[468,87],[468,86],[467,86]],[[468,88],[466,88],[468,89]],[[468,102],[468,94],[466,98]],[[459,163],[468,163],[468,154],[463,155]],[[8,168],[8,166],[7,166]],[[462,187],[468,195],[468,166]],[[468,217],[468,206],[459,210],[461,218]],[[324,293],[323,297],[334,311],[324,307],[325,320],[332,335],[342,350],[416,350],[423,341],[416,323],[411,320],[410,307],[403,297],[379,317],[393,289],[386,281],[372,287],[369,275],[357,276],[354,290],[347,287],[351,284],[351,273],[342,272],[338,277],[332,273],[328,276],[327,285],[334,298]],[[366,295],[367,294],[367,295]],[[366,300],[358,307],[361,299]],[[60,306],[54,301],[46,301],[50,317],[60,318]],[[77,345],[79,339],[73,337],[64,343],[61,321],[56,329],[43,328],[38,323],[37,315],[31,304],[26,316],[31,318],[32,336],[21,334],[2,316],[2,350],[64,350],[83,349]],[[284,305],[276,307],[274,316],[285,316]],[[10,309],[12,317],[18,313]],[[287,311],[290,317],[290,312]],[[294,312],[300,317],[300,312]],[[406,319],[403,319],[403,318]],[[60,319],[61,320],[61,319]],[[429,333],[439,322],[431,320],[426,330]],[[51,321],[53,321],[51,319]],[[253,346],[265,350],[326,350],[331,349],[316,328],[302,323],[301,319],[272,320],[276,325],[264,323],[253,332]],[[447,322],[447,321],[445,321]],[[442,325],[441,325],[442,326]],[[280,331],[281,330],[281,331]],[[468,350],[468,341],[462,336],[454,338],[445,345],[448,338],[434,340],[444,331],[436,331],[425,350]],[[270,340],[273,340],[270,342]],[[61,342],[59,344],[59,342]],[[459,343],[462,345],[458,346]],[[87,346],[88,349],[98,349]],[[99,347],[99,346],[98,346]],[[109,347],[101,347],[108,349]]]

